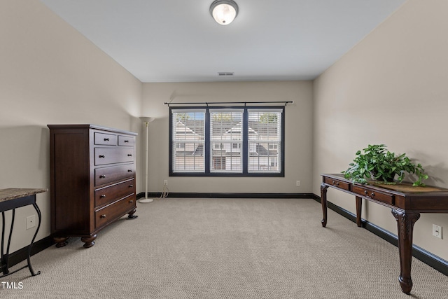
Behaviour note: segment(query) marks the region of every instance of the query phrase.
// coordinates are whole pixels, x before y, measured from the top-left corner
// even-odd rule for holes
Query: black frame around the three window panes
[[[242,155],[242,172],[211,172],[211,158],[210,158],[210,112],[214,109],[239,109],[243,110],[243,127],[242,132],[243,143],[241,148]],[[248,110],[251,109],[272,109],[281,110],[281,151],[280,160],[277,161],[280,165],[280,172],[249,172],[248,171]],[[173,111],[176,110],[205,110],[205,127],[204,127],[204,172],[174,172],[173,171]],[[267,111],[269,112],[269,111]],[[285,106],[179,106],[169,107],[169,176],[242,176],[242,177],[284,177],[285,176]]]

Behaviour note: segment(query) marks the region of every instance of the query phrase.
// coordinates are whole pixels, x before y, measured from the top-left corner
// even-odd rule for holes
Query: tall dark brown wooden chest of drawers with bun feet
[[[84,247],[125,214],[136,218],[137,133],[97,125],[50,128],[51,234],[56,246],[71,236]]]

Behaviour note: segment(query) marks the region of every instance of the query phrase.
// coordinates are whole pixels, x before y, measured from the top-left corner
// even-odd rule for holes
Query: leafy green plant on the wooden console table
[[[357,183],[367,183],[367,179],[381,183],[401,183],[406,174],[415,174],[418,179],[412,186],[425,186],[422,181],[428,179],[428,174],[425,174],[420,164],[414,164],[405,153],[395,155],[387,151],[384,144],[369,144],[363,153],[357,151],[356,158],[342,173],[346,179]],[[398,175],[396,181],[395,175]]]

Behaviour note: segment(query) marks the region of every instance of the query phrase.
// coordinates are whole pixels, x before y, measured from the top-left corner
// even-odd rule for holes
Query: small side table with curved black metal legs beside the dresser
[[[41,274],[40,271],[34,272],[33,267],[31,267],[31,246],[33,246],[34,239],[36,239],[37,232],[41,227],[41,211],[36,204],[36,194],[47,192],[48,189],[23,189],[23,188],[9,188],[9,189],[0,189],[0,211],[2,218],[2,226],[1,226],[1,265],[0,272],[3,272],[3,275],[0,277],[5,277],[19,270],[29,268],[29,272],[31,272],[32,276],[36,276]],[[8,258],[9,258],[9,246],[11,242],[11,237],[13,235],[13,227],[14,227],[14,218],[15,218],[15,209],[20,207],[25,207],[27,205],[32,204],[34,209],[36,210],[39,222],[36,228],[36,232],[34,232],[34,237],[31,239],[31,243],[28,246],[28,256],[27,256],[27,265],[10,272],[8,269]],[[9,237],[8,237],[8,245],[6,247],[6,253],[4,253],[4,241],[5,241],[5,211],[13,210],[13,217],[11,219]]]

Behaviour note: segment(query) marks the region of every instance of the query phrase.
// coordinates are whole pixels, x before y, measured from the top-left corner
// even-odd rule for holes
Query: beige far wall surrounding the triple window
[[[150,124],[149,186],[182,193],[310,193],[311,81],[241,83],[144,83],[143,114]],[[286,167],[284,178],[169,177],[169,108],[165,102],[294,101],[286,106]],[[301,186],[296,187],[295,181]]]

